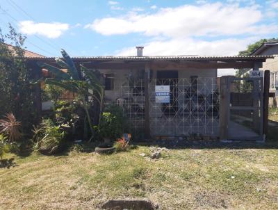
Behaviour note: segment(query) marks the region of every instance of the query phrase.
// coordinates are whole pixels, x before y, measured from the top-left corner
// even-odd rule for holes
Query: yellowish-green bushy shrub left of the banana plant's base
[[[65,131],[60,125],[55,125],[51,119],[42,120],[40,127],[34,129],[33,149],[42,154],[56,154],[63,145]]]

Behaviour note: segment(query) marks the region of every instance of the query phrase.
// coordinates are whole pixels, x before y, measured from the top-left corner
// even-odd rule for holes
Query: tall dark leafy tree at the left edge
[[[14,113],[19,121],[24,122],[22,127],[28,132],[35,122],[36,111],[30,83],[33,78],[24,58],[26,37],[11,25],[9,29],[6,34],[0,29],[0,117]]]

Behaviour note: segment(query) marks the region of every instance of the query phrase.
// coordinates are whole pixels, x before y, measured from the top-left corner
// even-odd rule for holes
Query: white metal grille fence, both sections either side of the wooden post
[[[170,86],[170,103],[156,103],[155,86]],[[129,126],[145,128],[144,80],[126,81],[106,97],[124,107]],[[109,103],[106,100],[106,103]],[[149,83],[149,122],[153,136],[218,136],[219,91],[216,78],[152,79]]]

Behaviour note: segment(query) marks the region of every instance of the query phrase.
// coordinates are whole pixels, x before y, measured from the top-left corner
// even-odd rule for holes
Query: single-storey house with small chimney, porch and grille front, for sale
[[[218,83],[217,71],[257,70],[273,56],[143,56],[142,50],[137,47],[137,56],[72,58],[76,67],[82,64],[101,72],[105,103],[124,108],[137,137],[263,139],[263,107],[258,107],[263,90],[245,97],[250,105],[243,108],[240,99],[229,97],[235,96],[231,87],[236,78],[226,76]],[[55,58],[28,59],[33,65],[38,61],[55,65]],[[40,72],[40,67],[34,68]]]

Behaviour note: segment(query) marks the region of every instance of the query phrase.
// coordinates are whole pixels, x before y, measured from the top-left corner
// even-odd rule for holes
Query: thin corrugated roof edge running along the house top
[[[33,57],[33,59],[38,57]],[[83,56],[74,60],[265,60],[274,56]],[[29,57],[28,59],[32,59]],[[44,57],[43,59],[54,59]]]

